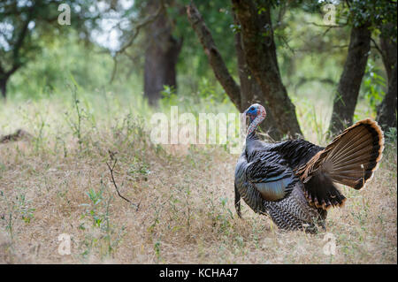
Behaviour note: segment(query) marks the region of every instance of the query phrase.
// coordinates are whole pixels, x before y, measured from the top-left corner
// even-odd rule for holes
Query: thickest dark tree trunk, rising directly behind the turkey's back
[[[295,105],[290,101],[280,78],[273,40],[271,5],[264,3],[265,11],[259,15],[258,7],[251,0],[232,2],[241,24],[242,49],[246,62],[262,90],[280,133],[291,137],[302,135],[295,115]]]

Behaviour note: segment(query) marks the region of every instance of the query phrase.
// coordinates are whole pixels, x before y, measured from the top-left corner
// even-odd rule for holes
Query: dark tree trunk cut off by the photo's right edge
[[[377,120],[383,130],[397,126],[397,88],[396,88],[396,68],[397,68],[397,44],[391,38],[380,38],[380,49],[382,52],[383,63],[387,72],[388,88],[387,94],[379,105]]]

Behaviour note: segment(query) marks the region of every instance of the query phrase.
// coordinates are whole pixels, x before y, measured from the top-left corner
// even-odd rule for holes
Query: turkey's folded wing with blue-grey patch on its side
[[[257,156],[249,163],[246,177],[266,201],[279,201],[287,196],[299,181],[294,171],[280,156]],[[277,161],[275,158],[279,158]],[[273,160],[273,161],[270,161]]]

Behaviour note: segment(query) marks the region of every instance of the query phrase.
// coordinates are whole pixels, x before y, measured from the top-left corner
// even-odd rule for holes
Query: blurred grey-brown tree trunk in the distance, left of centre
[[[149,12],[157,11],[159,5],[160,1],[150,1]],[[144,96],[150,105],[156,105],[165,86],[177,88],[176,64],[182,40],[172,36],[172,26],[165,9],[149,25],[146,34],[148,47],[145,52]]]

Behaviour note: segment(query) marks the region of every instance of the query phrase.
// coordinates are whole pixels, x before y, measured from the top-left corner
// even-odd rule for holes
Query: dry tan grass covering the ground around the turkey
[[[325,232],[279,231],[245,204],[236,216],[237,156],[224,149],[169,155],[179,149],[154,147],[129,117],[83,124],[80,140],[44,119],[48,135],[32,121],[34,139],[0,144],[0,263],[397,263],[396,145],[363,191],[342,187],[346,207],[327,219],[336,255],[325,255]],[[138,210],[111,183],[109,149],[120,193]],[[61,233],[71,255],[57,252]]]

